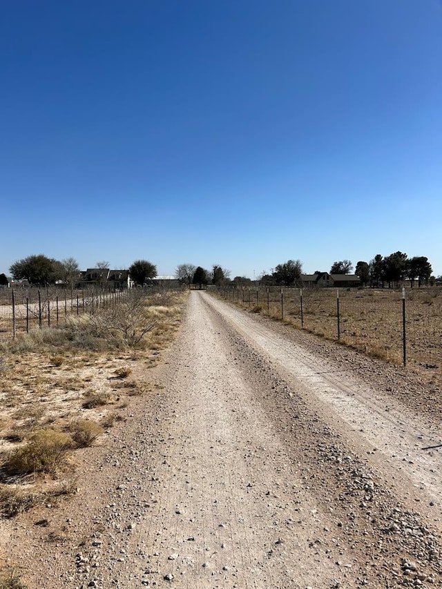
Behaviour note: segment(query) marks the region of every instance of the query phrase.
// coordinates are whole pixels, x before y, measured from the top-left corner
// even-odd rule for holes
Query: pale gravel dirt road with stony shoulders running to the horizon
[[[419,382],[200,292],[156,379],[73,500],[2,525],[30,588],[441,586]]]

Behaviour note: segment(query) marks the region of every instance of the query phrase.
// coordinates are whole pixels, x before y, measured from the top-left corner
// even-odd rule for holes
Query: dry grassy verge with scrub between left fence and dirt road
[[[0,374],[6,376],[0,380],[3,516],[47,503],[57,494],[69,494],[60,490],[59,481],[72,470],[75,449],[87,448],[105,429],[124,421],[127,416],[122,411],[131,397],[152,389],[148,369],[157,364],[159,350],[173,340],[186,296],[186,292],[160,293],[137,299],[131,307],[138,313],[132,334],[126,334],[127,321],[106,324],[109,316],[113,320],[126,316],[131,311],[128,305],[123,313],[95,309],[93,320],[84,320],[84,331],[72,327],[82,321],[79,315],[64,327],[33,327],[15,340],[2,336]],[[97,316],[102,316],[102,334],[95,329]]]

